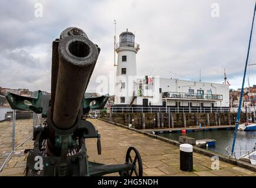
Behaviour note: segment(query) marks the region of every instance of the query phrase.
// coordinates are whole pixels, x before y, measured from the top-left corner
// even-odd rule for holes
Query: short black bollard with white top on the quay
[[[187,143],[179,145],[180,169],[185,172],[193,170],[193,146]]]

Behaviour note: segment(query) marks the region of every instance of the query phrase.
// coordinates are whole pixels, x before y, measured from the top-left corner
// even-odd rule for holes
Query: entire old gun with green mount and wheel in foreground
[[[129,147],[124,164],[88,160],[85,140],[98,139],[101,155],[101,135],[85,117],[89,110],[103,109],[109,97],[84,97],[99,51],[82,29],[67,28],[52,43],[51,95],[41,90],[30,98],[6,94],[12,109],[32,110],[43,117],[34,127],[34,148],[25,150],[29,153],[27,176],[101,176],[115,172],[121,176],[142,176],[141,156],[134,147]]]

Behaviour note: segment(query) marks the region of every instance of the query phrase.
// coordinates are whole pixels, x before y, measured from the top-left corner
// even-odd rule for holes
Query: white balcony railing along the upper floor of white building
[[[198,93],[181,93],[181,92],[164,92],[162,98],[173,99],[200,99],[200,100],[222,100],[222,95],[198,94]]]

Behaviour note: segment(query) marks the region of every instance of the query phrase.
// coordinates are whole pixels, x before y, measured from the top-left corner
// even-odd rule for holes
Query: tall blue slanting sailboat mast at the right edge
[[[238,129],[238,124],[239,124],[240,114],[241,114],[242,95],[244,93],[244,81],[245,81],[245,75],[246,75],[246,70],[247,70],[247,63],[248,63],[249,54],[250,54],[251,38],[252,38],[252,31],[253,31],[253,25],[254,25],[255,11],[256,11],[256,2],[255,2],[254,14],[253,14],[253,18],[252,18],[251,33],[250,33],[250,39],[249,39],[249,44],[248,44],[247,58],[246,58],[246,61],[245,61],[244,78],[242,79],[242,88],[241,88],[241,95],[240,95],[238,112],[237,112],[237,120],[235,122],[235,132],[234,132],[234,139],[233,139],[233,143],[232,143],[231,156],[234,155],[235,139],[237,138],[237,129]]]

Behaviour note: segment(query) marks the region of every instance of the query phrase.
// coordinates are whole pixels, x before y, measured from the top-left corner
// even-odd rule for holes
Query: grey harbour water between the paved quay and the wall
[[[207,147],[208,150],[220,153],[227,156],[226,152],[227,146],[232,146],[234,130],[211,130],[211,131],[197,131],[197,132],[187,132],[187,133],[160,133],[159,136],[164,136],[169,139],[178,140],[179,136],[189,136],[194,137],[196,140],[201,139],[215,139],[216,145]],[[235,155],[239,157],[245,152],[243,150],[251,151],[255,147],[256,143],[256,131],[254,132],[237,132],[237,140],[235,142]],[[241,152],[240,152],[241,151]]]

